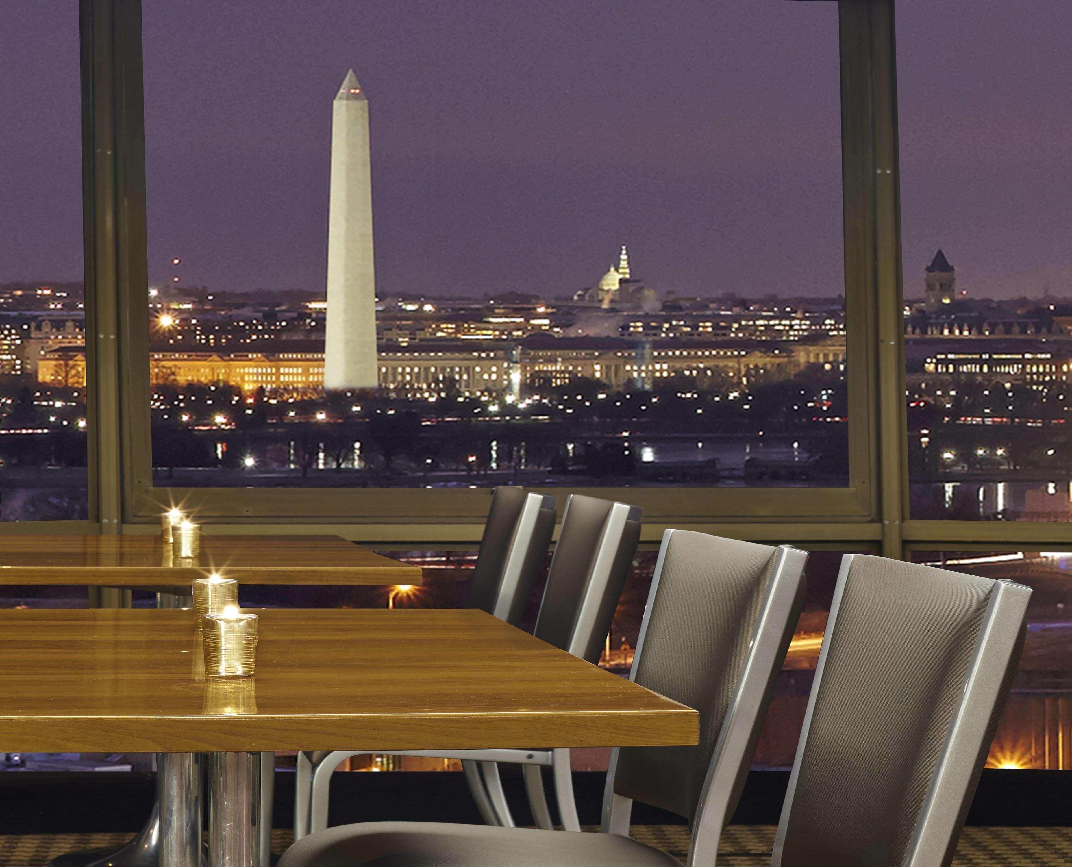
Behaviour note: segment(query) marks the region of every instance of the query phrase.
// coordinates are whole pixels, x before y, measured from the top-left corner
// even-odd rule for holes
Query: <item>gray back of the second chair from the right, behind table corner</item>
[[[630,678],[698,709],[700,741],[615,750],[608,788],[688,819],[694,839],[702,827],[712,857],[804,603],[806,559],[702,533],[662,538]]]

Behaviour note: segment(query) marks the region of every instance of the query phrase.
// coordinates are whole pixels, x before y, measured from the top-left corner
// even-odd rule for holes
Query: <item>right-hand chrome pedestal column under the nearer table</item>
[[[209,867],[260,867],[260,753],[214,752],[210,775]]]

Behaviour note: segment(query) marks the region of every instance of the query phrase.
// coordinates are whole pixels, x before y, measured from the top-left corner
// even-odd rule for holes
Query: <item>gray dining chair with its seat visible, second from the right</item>
[[[632,799],[693,824],[690,864],[714,864],[804,601],[807,555],[786,545],[667,530],[630,679],[700,713],[693,747],[611,753],[600,834],[423,822],[342,825],[295,843],[279,867],[678,865],[628,837]]]

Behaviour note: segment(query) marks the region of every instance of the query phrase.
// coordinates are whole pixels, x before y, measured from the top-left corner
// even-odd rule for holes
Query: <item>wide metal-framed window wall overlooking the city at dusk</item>
[[[69,4],[0,13],[0,532],[181,503],[426,566],[248,604],[449,607],[471,489],[601,494],[623,673],[665,527],[798,540],[774,767],[838,552],[1013,578],[991,764],[1069,767],[1067,4],[896,0],[896,57],[893,0],[79,6],[80,70]]]

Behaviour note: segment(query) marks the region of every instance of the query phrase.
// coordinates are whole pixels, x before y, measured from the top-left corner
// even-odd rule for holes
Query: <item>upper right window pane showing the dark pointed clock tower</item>
[[[1072,6],[897,4],[911,517],[1072,517]]]

